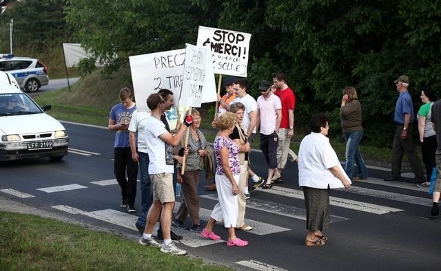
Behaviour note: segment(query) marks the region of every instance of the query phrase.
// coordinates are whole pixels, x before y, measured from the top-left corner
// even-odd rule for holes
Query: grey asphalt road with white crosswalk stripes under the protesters
[[[141,215],[140,195],[136,213],[119,207],[114,134],[103,127],[63,124],[70,135],[69,155],[62,162],[0,164],[0,196],[138,241],[134,222]],[[265,176],[262,153],[252,153],[252,167]],[[331,228],[325,232],[329,242],[320,248],[304,245],[305,203],[292,162],[282,184],[258,189],[247,202],[246,223],[254,230],[237,235],[249,246],[227,247],[227,231],[220,224],[215,231],[222,239],[216,242],[189,230],[173,230],[184,236],[179,246],[189,254],[237,270],[439,270],[441,221],[428,218],[427,190],[380,180],[389,170],[371,167],[369,174],[369,180],[357,181],[347,191],[331,191]],[[216,204],[216,192],[204,191],[205,182],[201,174],[203,224]]]

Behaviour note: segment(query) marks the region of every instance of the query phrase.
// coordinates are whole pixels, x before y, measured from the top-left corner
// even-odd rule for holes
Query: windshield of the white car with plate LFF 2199
[[[24,93],[0,94],[0,116],[43,113],[38,105]]]

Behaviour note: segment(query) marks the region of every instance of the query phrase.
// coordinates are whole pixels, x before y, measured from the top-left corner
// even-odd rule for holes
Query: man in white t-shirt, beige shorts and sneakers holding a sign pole
[[[176,247],[171,237],[172,215],[174,208],[173,173],[174,160],[172,147],[176,147],[185,131],[185,126],[192,124],[191,116],[187,116],[184,125],[172,135],[165,128],[161,116],[166,110],[164,98],[160,94],[151,94],[147,98],[147,107],[152,115],[145,121],[145,138],[149,153],[149,174],[152,180],[153,204],[147,214],[144,234],[139,240],[143,246],[161,247],[161,252],[183,255],[187,251]],[[161,215],[161,226],[164,243],[161,245],[152,237],[153,228]]]

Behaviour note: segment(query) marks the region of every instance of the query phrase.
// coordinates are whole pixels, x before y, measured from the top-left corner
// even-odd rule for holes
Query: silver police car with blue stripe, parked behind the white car
[[[0,71],[14,76],[21,89],[34,92],[48,85],[48,68],[36,58],[0,54]]]

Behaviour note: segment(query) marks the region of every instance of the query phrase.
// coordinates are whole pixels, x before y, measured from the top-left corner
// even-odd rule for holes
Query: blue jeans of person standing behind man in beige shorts
[[[141,209],[142,215],[136,221],[138,224],[145,225],[147,213],[152,206],[152,180],[149,175],[149,155],[148,153],[138,152],[139,155],[139,171],[141,173]]]

